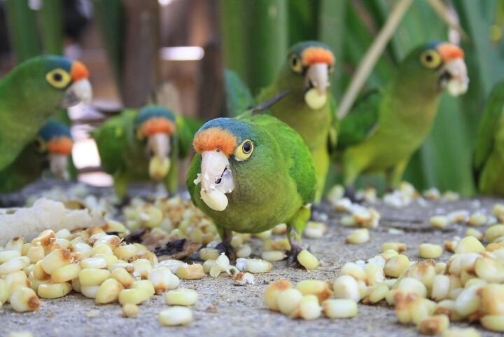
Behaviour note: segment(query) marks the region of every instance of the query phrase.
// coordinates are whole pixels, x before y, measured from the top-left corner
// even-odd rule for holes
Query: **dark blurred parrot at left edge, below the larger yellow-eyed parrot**
[[[50,118],[18,158],[0,171],[0,193],[18,191],[36,181],[41,177],[48,161],[50,171],[55,177],[67,177],[72,146],[70,129]]]

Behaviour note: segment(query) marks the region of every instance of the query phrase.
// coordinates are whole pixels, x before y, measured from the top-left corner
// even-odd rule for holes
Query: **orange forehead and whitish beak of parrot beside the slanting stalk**
[[[442,43],[437,51],[444,62],[440,71],[440,87],[452,96],[464,94],[468,90],[469,77],[463,50],[451,43]]]

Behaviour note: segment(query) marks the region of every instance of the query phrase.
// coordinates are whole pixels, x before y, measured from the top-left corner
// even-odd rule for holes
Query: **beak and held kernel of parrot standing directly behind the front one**
[[[314,110],[321,109],[327,102],[329,87],[329,67],[327,63],[314,63],[304,76],[304,102]]]

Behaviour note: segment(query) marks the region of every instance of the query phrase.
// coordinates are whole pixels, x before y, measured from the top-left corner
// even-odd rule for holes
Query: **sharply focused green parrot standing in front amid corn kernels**
[[[188,191],[216,223],[230,259],[232,231],[260,233],[286,223],[294,262],[310,216],[305,206],[316,189],[314,163],[300,135],[272,116],[248,114],[205,123],[193,146]]]

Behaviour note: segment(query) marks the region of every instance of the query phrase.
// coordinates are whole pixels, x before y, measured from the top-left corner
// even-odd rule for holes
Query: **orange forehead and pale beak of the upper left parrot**
[[[62,107],[68,108],[80,102],[89,103],[92,99],[91,83],[87,79],[89,73],[84,64],[74,61],[70,70],[73,84],[65,91]]]

